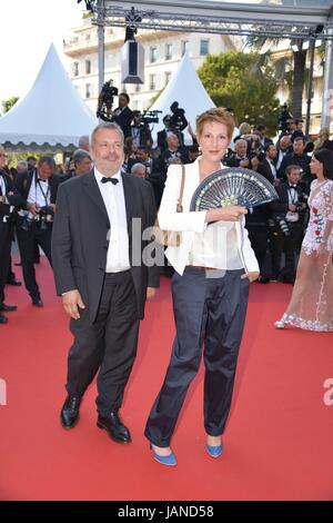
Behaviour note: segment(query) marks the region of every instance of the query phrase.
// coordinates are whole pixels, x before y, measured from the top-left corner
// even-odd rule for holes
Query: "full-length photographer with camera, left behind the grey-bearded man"
[[[36,243],[43,249],[50,265],[51,235],[56,198],[60,176],[54,175],[53,158],[43,156],[39,159],[37,169],[18,175],[16,186],[22,196],[23,210],[19,211],[17,236],[22,260],[23,278],[32,305],[42,307],[39,286],[33,267]]]

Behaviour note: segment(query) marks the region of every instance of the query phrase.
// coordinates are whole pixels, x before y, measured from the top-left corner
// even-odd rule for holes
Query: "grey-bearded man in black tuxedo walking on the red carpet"
[[[121,128],[99,125],[91,135],[94,168],[61,185],[52,236],[57,290],[74,336],[61,424],[77,424],[81,398],[99,371],[98,427],[117,443],[131,442],[119,409],[145,298],[159,286],[158,267],[143,259],[149,241],[142,233],[155,221],[153,191],[145,180],[121,174],[123,156]]]

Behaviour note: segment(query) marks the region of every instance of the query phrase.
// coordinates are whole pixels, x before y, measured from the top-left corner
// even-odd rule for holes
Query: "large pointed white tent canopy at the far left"
[[[0,144],[47,150],[78,146],[98,124],[64,70],[53,43],[24,98],[0,118]]]

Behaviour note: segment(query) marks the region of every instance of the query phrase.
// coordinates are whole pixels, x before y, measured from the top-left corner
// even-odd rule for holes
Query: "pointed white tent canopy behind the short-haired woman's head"
[[[152,136],[155,141],[157,132],[164,128],[162,118],[170,115],[170,106],[173,101],[179,102],[179,107],[185,110],[185,117],[195,130],[195,118],[201,112],[215,107],[213,100],[209,97],[196,71],[191,62],[191,59],[185,52],[179,69],[171,78],[171,81],[165,87],[161,96],[153,103],[150,110],[162,111],[159,124],[152,130]],[[192,139],[189,134],[184,134],[185,144],[191,144]]]

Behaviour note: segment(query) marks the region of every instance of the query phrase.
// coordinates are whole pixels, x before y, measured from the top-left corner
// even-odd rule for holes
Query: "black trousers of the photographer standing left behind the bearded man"
[[[18,225],[17,225],[17,237],[19,243],[19,249],[21,255],[21,263],[22,263],[22,273],[24,285],[32,298],[40,297],[39,286],[36,279],[36,270],[34,270],[34,260],[36,260],[36,245],[39,245],[51,267],[52,267],[52,258],[51,258],[51,236],[52,236],[52,225],[48,225],[46,230],[40,228],[40,224],[38,221],[33,221],[29,228],[29,230],[23,230],[21,228],[22,218],[19,217]]]

